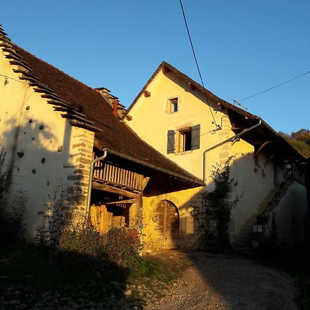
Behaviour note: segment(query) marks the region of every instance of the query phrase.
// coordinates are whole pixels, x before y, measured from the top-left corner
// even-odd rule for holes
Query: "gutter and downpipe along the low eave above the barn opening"
[[[114,151],[114,149],[108,149],[107,147],[104,147],[102,149],[103,151],[103,156],[94,158],[91,162],[90,162],[90,178],[88,180],[88,192],[87,192],[87,208],[86,208],[86,212],[85,212],[85,225],[87,225],[87,218],[90,214],[90,203],[91,203],[91,198],[92,198],[92,178],[93,178],[93,174],[94,174],[94,163],[96,163],[97,161],[104,161],[105,158],[107,157],[107,154],[111,154],[120,158],[124,158],[127,161],[132,161],[134,163],[137,163],[138,165],[143,165],[145,167],[157,170],[159,172],[163,172],[165,174],[169,174],[170,176],[174,176],[176,178],[180,178],[181,180],[185,180],[189,183],[194,183],[196,185],[200,185],[203,186],[203,181],[197,182],[197,180],[195,180],[194,178],[189,178],[187,176],[182,176],[181,174],[176,174],[175,172],[172,172],[168,169],[165,168],[161,168],[161,167],[157,167],[156,165],[153,165],[151,163],[146,163],[145,161],[141,161],[140,159],[134,158],[132,156],[129,155],[125,155],[121,152],[117,152]]]

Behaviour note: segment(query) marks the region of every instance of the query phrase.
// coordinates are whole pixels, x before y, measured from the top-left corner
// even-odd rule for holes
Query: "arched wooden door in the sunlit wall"
[[[180,216],[176,206],[168,200],[161,200],[152,214],[153,246],[163,249],[178,247]]]

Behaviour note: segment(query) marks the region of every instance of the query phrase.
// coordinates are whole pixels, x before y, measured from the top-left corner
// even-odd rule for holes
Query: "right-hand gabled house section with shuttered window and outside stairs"
[[[127,115],[125,122],[138,136],[204,181],[204,189],[187,190],[188,202],[181,209],[202,207],[203,192],[214,188],[214,165],[225,165],[233,156],[231,177],[238,187],[229,200],[242,198],[232,210],[231,242],[247,247],[253,238],[271,236],[286,247],[304,242],[307,191],[300,164],[305,160],[260,117],[218,98],[165,61]],[[172,194],[173,202],[178,194]]]

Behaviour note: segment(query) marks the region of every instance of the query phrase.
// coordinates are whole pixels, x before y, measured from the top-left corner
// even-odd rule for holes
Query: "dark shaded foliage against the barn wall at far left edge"
[[[18,190],[14,194],[14,200],[10,208],[6,205],[5,194],[8,192],[6,172],[3,172],[3,163],[6,152],[0,152],[0,234],[1,243],[10,243],[21,240],[25,225],[23,223],[25,204],[27,202],[25,193]]]

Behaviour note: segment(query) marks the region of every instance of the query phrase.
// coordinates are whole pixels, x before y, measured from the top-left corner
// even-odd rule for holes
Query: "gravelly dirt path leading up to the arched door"
[[[183,259],[192,264],[167,296],[147,305],[146,310],[296,309],[293,280],[275,269],[203,252],[157,255],[172,263]]]

